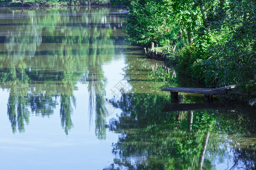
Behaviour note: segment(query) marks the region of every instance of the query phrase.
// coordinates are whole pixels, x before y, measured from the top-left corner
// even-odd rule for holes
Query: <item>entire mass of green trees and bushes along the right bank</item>
[[[229,99],[255,104],[255,1],[128,2],[131,42],[175,46],[169,58],[179,75],[212,88],[237,84]]]

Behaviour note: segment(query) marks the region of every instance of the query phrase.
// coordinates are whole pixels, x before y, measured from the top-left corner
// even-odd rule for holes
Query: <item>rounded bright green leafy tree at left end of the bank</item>
[[[172,16],[167,3],[164,1],[129,1],[126,33],[131,42],[150,44],[160,42],[164,44],[167,37],[172,36]],[[170,44],[170,43],[167,43]]]

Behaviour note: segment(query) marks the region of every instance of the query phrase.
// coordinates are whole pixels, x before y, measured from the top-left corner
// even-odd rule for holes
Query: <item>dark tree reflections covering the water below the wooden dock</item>
[[[119,139],[105,169],[255,168],[255,109],[187,101],[193,97],[170,104],[166,96],[129,93],[111,101],[122,113],[108,126]]]

